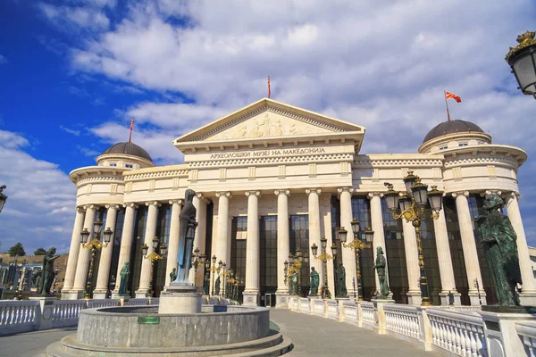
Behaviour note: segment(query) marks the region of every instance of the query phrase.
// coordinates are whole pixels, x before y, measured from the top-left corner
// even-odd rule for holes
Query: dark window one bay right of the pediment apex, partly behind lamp
[[[309,215],[308,214],[296,214],[290,216],[289,224],[290,232],[290,253],[295,254],[296,248],[299,246],[299,249],[303,254],[309,254]],[[338,254],[339,255],[339,254]],[[309,295],[310,281],[309,281],[309,270],[310,264],[308,259],[304,259],[301,275],[300,275],[300,288],[301,296]],[[314,259],[314,258],[313,258]]]

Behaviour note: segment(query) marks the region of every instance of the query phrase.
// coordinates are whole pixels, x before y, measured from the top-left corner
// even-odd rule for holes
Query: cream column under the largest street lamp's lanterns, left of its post
[[[406,253],[408,282],[407,303],[410,305],[420,305],[422,303],[421,289],[419,288],[421,271],[415,228],[412,222],[406,222],[406,220],[402,219],[402,230],[404,231],[404,252]]]

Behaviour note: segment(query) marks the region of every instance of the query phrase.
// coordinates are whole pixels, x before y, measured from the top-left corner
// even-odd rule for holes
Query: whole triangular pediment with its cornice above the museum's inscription
[[[175,139],[180,150],[264,145],[300,140],[363,141],[364,127],[264,98]]]

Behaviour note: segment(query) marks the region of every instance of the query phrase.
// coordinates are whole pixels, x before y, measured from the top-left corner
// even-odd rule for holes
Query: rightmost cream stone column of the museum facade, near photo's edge
[[[519,255],[519,267],[521,268],[521,278],[523,286],[519,295],[521,303],[526,306],[536,305],[536,286],[532,274],[532,262],[527,246],[527,238],[525,237],[523,220],[521,220],[521,212],[519,212],[519,203],[517,202],[518,193],[512,192],[507,195],[505,203],[507,205],[508,219],[514,227],[515,235],[517,236],[517,252]]]

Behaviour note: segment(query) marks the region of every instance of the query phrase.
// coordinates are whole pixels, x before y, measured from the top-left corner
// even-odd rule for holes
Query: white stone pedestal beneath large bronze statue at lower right
[[[536,308],[526,306],[482,306],[484,334],[491,357],[526,355],[523,340],[517,335],[515,324],[536,321]]]

